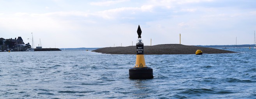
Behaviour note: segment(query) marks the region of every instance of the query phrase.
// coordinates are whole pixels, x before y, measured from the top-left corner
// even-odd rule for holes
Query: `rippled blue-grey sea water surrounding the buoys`
[[[145,55],[150,80],[129,79],[136,55],[0,52],[0,99],[255,99],[256,49],[225,50]]]

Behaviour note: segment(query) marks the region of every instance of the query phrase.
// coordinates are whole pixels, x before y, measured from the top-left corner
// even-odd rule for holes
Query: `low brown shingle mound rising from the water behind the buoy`
[[[154,46],[144,46],[144,54],[195,54],[196,50],[198,49],[207,54],[235,53],[228,50],[220,50],[207,47],[188,46],[182,44],[161,44]],[[103,54],[136,54],[136,46],[105,47],[93,50],[93,52],[100,52]]]

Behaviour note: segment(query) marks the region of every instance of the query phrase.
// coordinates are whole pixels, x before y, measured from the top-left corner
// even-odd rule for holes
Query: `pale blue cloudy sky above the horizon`
[[[0,0],[0,38],[43,48],[254,44],[256,0]]]

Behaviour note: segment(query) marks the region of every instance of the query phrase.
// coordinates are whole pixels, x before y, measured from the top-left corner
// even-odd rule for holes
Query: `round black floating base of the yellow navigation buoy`
[[[153,69],[149,67],[145,68],[131,68],[129,69],[129,78],[130,79],[152,79]]]

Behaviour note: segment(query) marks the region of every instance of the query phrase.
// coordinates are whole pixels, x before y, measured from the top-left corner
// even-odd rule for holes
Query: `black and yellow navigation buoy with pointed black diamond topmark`
[[[138,40],[136,43],[136,64],[134,68],[129,69],[130,79],[152,79],[153,69],[146,66],[144,58],[144,44],[141,39],[141,29],[138,27]]]

